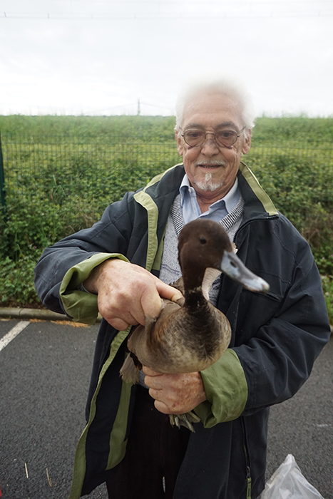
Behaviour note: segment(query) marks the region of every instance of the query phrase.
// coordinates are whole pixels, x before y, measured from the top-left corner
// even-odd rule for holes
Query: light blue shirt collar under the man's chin
[[[204,213],[201,212],[198,205],[197,195],[194,188],[190,185],[190,180],[188,180],[188,175],[184,175],[183,181],[179,187],[180,192],[180,206],[183,210],[183,219],[185,224],[195,220],[196,218],[208,218],[209,220],[215,220],[215,222],[220,222],[223,217],[231,212],[237,205],[240,199],[240,190],[238,187],[238,179],[236,178],[234,185],[225,197],[215,201],[210,205],[208,210]]]

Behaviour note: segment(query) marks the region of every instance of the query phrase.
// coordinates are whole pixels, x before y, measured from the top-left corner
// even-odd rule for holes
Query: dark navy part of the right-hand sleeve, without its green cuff
[[[275,317],[235,349],[247,380],[245,415],[294,396],[329,336],[321,278],[307,252]]]

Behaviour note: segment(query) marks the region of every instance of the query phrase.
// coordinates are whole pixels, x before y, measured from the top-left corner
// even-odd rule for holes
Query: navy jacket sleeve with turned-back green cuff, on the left
[[[90,317],[88,322],[91,324],[94,321],[93,309],[97,311],[95,295],[80,292],[77,288],[80,279],[83,282],[91,270],[105,259],[125,259],[123,255],[128,252],[133,225],[130,214],[132,199],[131,193],[127,193],[123,200],[110,205],[93,227],[76,232],[44,250],[35,268],[35,287],[46,307],[62,314],[69,307],[68,315],[74,317],[73,302],[83,299],[89,308],[86,314]],[[66,284],[63,283],[65,276]],[[69,292],[75,292],[73,300],[68,297]],[[78,314],[81,315],[81,312]]]

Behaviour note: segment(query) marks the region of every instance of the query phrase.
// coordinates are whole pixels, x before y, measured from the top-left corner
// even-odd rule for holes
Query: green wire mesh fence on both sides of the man
[[[145,185],[153,175],[180,163],[175,140],[129,139],[111,135],[87,138],[2,135],[0,200],[3,217],[9,207],[25,205],[42,217],[45,210],[62,213],[71,230],[91,225],[104,207],[127,190]],[[333,150],[325,145],[265,143],[252,140],[247,165],[272,165],[278,158],[333,165]],[[53,216],[54,216],[53,215]]]

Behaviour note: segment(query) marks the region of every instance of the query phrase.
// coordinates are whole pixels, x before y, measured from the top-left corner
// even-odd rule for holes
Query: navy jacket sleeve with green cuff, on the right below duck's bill
[[[292,397],[329,340],[317,265],[300,236],[294,246],[293,264],[285,249],[275,279],[262,274],[278,283],[270,297],[241,292],[235,346],[201,373],[208,401],[195,412],[207,427]]]

